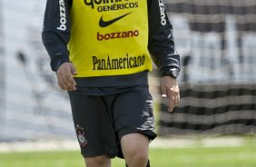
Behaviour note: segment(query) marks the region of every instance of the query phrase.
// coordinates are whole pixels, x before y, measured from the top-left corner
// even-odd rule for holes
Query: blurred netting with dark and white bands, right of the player
[[[181,103],[160,135],[256,133],[256,1],[166,0],[181,53]]]

